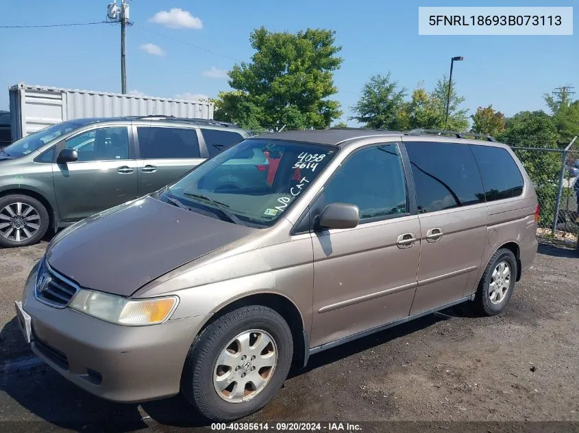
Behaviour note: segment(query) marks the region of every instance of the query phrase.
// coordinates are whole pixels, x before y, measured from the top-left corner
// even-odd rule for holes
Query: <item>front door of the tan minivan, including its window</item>
[[[323,189],[315,213],[331,202],[351,203],[360,209],[360,224],[312,236],[312,347],[408,316],[420,225],[406,191],[395,143],[357,150]]]

